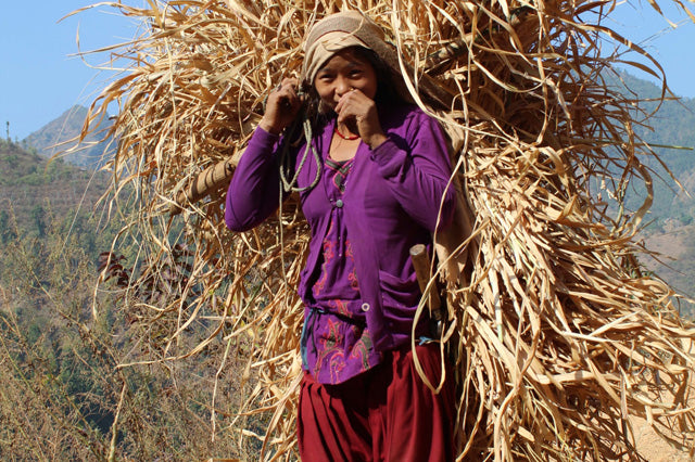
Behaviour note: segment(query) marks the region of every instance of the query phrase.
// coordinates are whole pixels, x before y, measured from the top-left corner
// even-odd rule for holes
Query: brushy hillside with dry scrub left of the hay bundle
[[[217,425],[232,424],[227,416],[243,394],[235,361],[220,373],[205,361],[210,354],[194,363],[143,362],[149,356],[117,281],[94,293],[99,253],[111,248],[118,226],[94,211],[106,180],[62,162],[47,165],[4,141],[0,163],[0,459],[194,460],[254,451],[253,444],[242,451],[232,438],[211,438],[211,383],[218,381]],[[125,362],[135,364],[119,367]]]

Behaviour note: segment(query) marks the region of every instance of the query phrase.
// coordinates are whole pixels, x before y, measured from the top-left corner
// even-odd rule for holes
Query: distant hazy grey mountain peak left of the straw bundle
[[[43,157],[52,157],[75,146],[74,140],[79,136],[83,123],[87,116],[87,108],[73,106],[65,111],[60,117],[51,120],[37,131],[23,140],[23,144],[33,147]],[[81,167],[98,168],[104,164],[104,150],[109,143],[98,143],[105,130],[111,126],[111,121],[105,119],[99,125],[93,133],[90,133],[74,152],[65,153],[64,159],[70,164]],[[113,150],[106,151],[105,157],[112,155]]]

